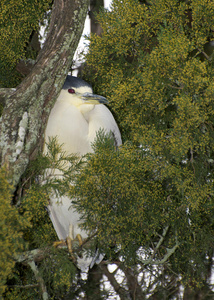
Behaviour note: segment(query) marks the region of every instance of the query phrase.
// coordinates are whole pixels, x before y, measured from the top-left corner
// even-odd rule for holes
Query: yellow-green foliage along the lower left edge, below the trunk
[[[11,186],[4,169],[0,170],[0,295],[4,292],[6,280],[11,277],[14,255],[25,249],[22,230],[29,226],[28,221],[11,206]]]

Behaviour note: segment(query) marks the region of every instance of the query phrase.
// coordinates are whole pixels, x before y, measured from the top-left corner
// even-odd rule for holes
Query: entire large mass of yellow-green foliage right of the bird
[[[140,246],[151,257],[169,225],[154,258],[177,240],[168,262],[195,284],[205,280],[214,234],[214,4],[149,3],[115,0],[98,16],[102,36],[90,37],[85,78],[110,99],[124,145],[97,148],[77,206],[104,251],[114,241],[126,259]]]

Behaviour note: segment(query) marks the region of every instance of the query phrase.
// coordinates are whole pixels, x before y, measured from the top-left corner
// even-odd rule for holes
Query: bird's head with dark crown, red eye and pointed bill
[[[69,75],[63,85],[61,94],[62,99],[71,102],[72,105],[78,108],[82,105],[85,106],[85,104],[94,106],[108,103],[105,97],[93,94],[90,84],[78,77]]]

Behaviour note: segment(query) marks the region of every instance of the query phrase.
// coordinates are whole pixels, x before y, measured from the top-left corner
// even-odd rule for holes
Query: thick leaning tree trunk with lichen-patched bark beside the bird
[[[71,66],[87,8],[85,0],[55,0],[44,47],[30,74],[6,99],[0,158],[14,187],[43,145],[46,122]]]

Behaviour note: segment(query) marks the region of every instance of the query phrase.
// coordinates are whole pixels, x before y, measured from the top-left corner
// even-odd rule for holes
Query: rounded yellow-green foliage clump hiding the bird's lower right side
[[[213,183],[199,189],[193,184],[193,174],[186,171],[189,184],[176,188],[158,163],[147,151],[130,143],[115,151],[112,140],[101,134],[95,154],[88,156],[86,166],[76,176],[72,189],[76,208],[83,214],[85,228],[97,232],[99,249],[110,256],[114,256],[115,247],[120,249],[126,264],[140,261],[140,247],[149,259],[152,243],[158,243],[163,228],[169,226],[154,258],[163,259],[166,250],[178,241],[179,250],[171,261],[179,261],[176,271],[184,272],[181,266],[185,268],[191,259],[198,263],[200,277],[204,254],[212,247]],[[176,171],[171,169],[170,177]],[[178,180],[178,173],[176,177]],[[180,184],[184,179],[183,172]]]

